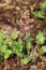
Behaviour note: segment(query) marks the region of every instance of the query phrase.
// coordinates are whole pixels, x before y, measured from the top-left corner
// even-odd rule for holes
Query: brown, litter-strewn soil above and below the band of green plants
[[[0,31],[4,29],[10,34],[13,30],[18,30],[19,38],[22,38],[25,32],[35,37],[39,31],[43,31],[46,37],[46,18],[40,19],[31,13],[44,1],[9,0],[7,2],[0,0]],[[5,61],[0,61],[0,70],[5,70],[4,68]],[[27,66],[21,66],[19,57],[12,57],[6,60],[6,70],[46,70],[46,56],[36,62],[29,62]]]

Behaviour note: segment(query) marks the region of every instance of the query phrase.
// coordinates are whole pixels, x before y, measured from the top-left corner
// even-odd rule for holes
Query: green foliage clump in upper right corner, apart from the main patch
[[[36,17],[39,18],[45,18],[45,15],[43,14],[44,13],[44,9],[46,9],[46,1],[42,2],[39,6],[40,11],[39,10],[35,10],[34,12],[32,12]]]

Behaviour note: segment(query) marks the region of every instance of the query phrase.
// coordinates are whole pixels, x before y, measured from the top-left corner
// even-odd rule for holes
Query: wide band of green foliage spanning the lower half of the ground
[[[39,32],[34,39],[30,34],[26,33],[24,38],[25,41],[21,39],[16,40],[18,32],[14,32],[9,37],[4,36],[5,34],[0,36],[0,60],[3,58],[7,59],[15,54],[21,58],[24,65],[28,65],[29,61],[35,61],[40,53],[46,53],[46,45],[44,45],[45,37],[43,32]],[[35,46],[32,44],[34,40],[43,45],[41,46],[40,53],[35,50],[39,47],[39,43],[36,42]]]

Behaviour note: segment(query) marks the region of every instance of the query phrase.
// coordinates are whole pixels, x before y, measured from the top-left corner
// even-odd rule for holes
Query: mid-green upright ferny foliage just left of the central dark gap
[[[17,56],[20,56],[20,57],[22,57],[22,40],[18,40],[17,42],[15,41],[14,42],[14,45],[13,45],[14,47],[13,47],[13,51],[14,51],[14,53],[17,55]]]

